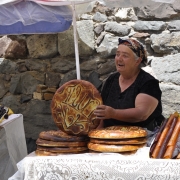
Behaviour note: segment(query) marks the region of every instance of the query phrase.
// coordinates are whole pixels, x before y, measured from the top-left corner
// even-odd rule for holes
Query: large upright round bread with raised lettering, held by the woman
[[[93,84],[84,80],[71,80],[54,94],[51,112],[60,130],[71,135],[87,135],[100,123],[93,114],[100,104],[101,95]]]

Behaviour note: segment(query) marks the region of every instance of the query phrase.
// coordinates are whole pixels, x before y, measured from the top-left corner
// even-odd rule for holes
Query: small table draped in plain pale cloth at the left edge
[[[23,115],[12,114],[0,123],[0,179],[17,171],[17,163],[27,156]]]

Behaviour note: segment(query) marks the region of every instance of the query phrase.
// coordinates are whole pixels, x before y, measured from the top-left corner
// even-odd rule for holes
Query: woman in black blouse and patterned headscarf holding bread
[[[117,72],[106,80],[101,92],[103,105],[94,111],[101,127],[136,125],[153,131],[164,120],[159,81],[141,69],[146,61],[140,42],[119,38]]]

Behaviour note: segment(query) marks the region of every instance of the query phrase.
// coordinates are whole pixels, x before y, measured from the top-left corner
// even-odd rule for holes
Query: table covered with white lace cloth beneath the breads
[[[149,148],[135,155],[84,153],[36,156],[20,161],[9,180],[180,180],[180,160],[150,159]]]

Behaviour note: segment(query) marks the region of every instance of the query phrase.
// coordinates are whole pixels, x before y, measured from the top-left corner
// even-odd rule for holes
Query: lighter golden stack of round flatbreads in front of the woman
[[[147,143],[147,131],[138,126],[111,126],[91,130],[88,148],[92,152],[135,153]]]

